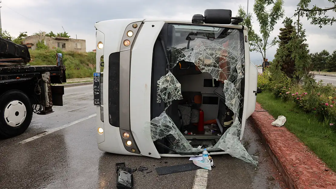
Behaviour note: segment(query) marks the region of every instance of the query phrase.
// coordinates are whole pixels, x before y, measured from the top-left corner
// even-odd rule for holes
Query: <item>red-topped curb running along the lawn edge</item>
[[[256,110],[263,110],[259,103],[256,103]],[[336,174],[286,127],[272,126],[272,115],[255,111],[250,120],[287,187],[336,189]]]

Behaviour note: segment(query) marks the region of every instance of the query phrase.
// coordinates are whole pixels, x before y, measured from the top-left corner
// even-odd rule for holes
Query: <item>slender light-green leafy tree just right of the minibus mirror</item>
[[[266,6],[274,4],[271,10],[266,10]],[[266,51],[277,44],[277,37],[270,43],[268,42],[270,33],[273,32],[277,21],[284,16],[283,0],[255,0],[253,11],[257,16],[260,26],[259,35],[255,35],[255,39],[251,41],[252,51],[260,52],[262,57],[266,57]]]

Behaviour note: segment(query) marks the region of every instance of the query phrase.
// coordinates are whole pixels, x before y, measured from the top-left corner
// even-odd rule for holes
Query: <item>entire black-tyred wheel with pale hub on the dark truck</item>
[[[0,138],[7,139],[24,133],[33,117],[29,97],[19,90],[0,96]]]

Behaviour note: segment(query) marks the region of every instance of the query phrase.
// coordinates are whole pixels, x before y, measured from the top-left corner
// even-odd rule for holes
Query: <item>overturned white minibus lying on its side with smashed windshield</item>
[[[255,109],[258,71],[248,28],[231,14],[207,9],[190,21],[95,24],[100,150],[160,158],[207,148],[252,161],[241,140]]]

